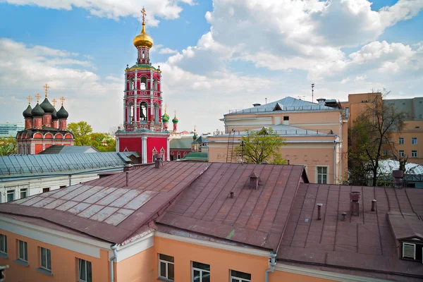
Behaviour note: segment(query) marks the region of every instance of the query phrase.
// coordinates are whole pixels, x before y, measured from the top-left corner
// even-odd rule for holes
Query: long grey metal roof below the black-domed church
[[[91,154],[34,154],[0,157],[0,178],[42,176],[69,171],[91,171],[93,168],[124,166],[138,157],[136,152]]]

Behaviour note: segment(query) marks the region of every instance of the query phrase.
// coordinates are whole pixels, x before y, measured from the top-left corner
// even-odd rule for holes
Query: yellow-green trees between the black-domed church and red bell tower
[[[69,123],[68,130],[75,137],[75,146],[92,146],[100,152],[115,152],[116,140],[107,133],[93,133],[92,127],[86,121]]]

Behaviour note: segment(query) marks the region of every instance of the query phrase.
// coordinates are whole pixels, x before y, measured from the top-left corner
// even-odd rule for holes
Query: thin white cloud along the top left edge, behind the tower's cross
[[[113,18],[118,20],[119,18],[130,16],[134,18],[140,18],[140,10],[142,6],[147,7],[147,22],[149,25],[155,26],[159,23],[157,18],[164,18],[173,20],[179,17],[179,13],[182,11],[182,7],[179,3],[194,5],[194,0],[60,0],[60,1],[49,1],[49,0],[4,0],[8,4],[15,5],[37,5],[42,8],[53,8],[72,10],[75,8],[83,8],[90,11],[92,16],[98,16],[102,18]]]

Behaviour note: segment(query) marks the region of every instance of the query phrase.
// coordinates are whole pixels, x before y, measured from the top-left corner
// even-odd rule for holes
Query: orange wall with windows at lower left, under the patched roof
[[[6,269],[6,281],[10,282],[75,282],[78,281],[78,261],[85,259],[92,264],[92,281],[109,281],[109,253],[100,250],[100,258],[82,255],[78,252],[63,249],[56,245],[49,245],[38,240],[16,235],[0,229],[0,233],[7,236],[8,259],[0,257],[0,265],[8,264]],[[18,240],[27,242],[28,266],[22,266],[16,262],[18,259]],[[39,247],[51,251],[51,274],[42,274],[37,269],[40,262]]]

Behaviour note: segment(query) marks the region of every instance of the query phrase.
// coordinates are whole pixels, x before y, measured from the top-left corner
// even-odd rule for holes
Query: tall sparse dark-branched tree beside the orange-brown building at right
[[[391,131],[403,129],[405,114],[396,112],[391,105],[384,104],[383,98],[388,94],[376,93],[371,106],[367,106],[356,118],[350,130],[350,183],[367,185],[367,176],[372,177],[372,186],[376,186],[379,161],[385,159],[383,147],[395,150],[395,143],[389,138]]]

